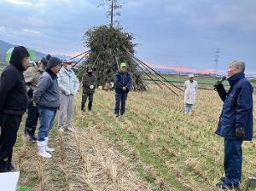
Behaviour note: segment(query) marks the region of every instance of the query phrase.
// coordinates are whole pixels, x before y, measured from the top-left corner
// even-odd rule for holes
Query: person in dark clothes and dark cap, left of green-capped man
[[[93,94],[96,89],[96,78],[93,75],[93,70],[91,67],[86,68],[86,72],[83,75],[83,96],[82,96],[82,104],[81,110],[84,111],[84,105],[86,103],[87,98],[89,98],[88,110],[91,110],[92,102],[93,102]]]

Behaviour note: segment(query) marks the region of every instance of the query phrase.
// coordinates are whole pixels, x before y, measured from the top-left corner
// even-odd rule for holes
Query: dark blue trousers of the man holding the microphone
[[[224,171],[227,186],[237,187],[241,183],[242,141],[224,139]]]

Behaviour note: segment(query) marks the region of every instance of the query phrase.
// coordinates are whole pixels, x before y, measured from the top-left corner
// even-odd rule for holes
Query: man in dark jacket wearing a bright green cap
[[[131,90],[131,76],[127,72],[125,62],[120,64],[119,72],[115,75],[115,108],[114,114],[118,118],[119,115],[125,114],[125,103],[128,92]]]

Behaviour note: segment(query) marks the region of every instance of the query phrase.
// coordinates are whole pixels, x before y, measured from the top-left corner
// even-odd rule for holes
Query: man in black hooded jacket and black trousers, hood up
[[[0,172],[12,171],[13,147],[22,115],[28,106],[26,83],[22,72],[28,65],[29,53],[23,46],[15,47],[10,65],[0,79]]]

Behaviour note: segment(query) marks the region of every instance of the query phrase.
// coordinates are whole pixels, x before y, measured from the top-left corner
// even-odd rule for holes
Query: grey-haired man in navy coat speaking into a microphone
[[[225,177],[217,184],[218,188],[239,188],[243,141],[253,139],[253,87],[245,78],[245,63],[232,61],[228,70],[230,90],[223,84],[215,84],[218,95],[224,101],[216,134],[224,137]]]

